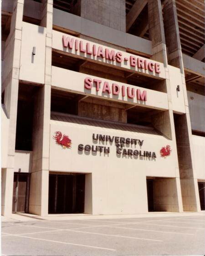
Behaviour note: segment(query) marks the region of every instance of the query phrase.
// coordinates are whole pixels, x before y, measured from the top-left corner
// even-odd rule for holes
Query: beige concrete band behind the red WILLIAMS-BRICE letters
[[[73,46],[72,49],[63,47],[63,42],[62,42],[62,37],[63,36],[73,38],[74,40],[76,40],[76,39],[79,40],[79,41],[81,40],[82,43],[83,43],[83,48],[86,47],[87,43],[89,43],[90,44],[90,49],[92,49],[93,44],[95,44],[97,49],[98,49],[98,47],[102,47],[104,52],[105,52],[106,48],[109,49],[109,51],[114,50],[115,53],[118,52],[117,49],[106,47],[106,46],[103,46],[103,45],[100,45],[100,44],[97,44],[97,43],[92,43],[90,41],[80,39],[79,37],[73,37],[73,36],[64,34],[62,32],[58,32],[58,31],[53,30],[52,47],[54,49],[69,53],[71,55],[79,56],[79,58],[82,58],[82,59],[90,59],[92,61],[97,61],[97,62],[100,62],[100,63],[103,63],[103,64],[110,64],[110,65],[118,67],[120,69],[133,70],[133,71],[136,71],[138,73],[141,73],[141,74],[144,74],[144,75],[147,75],[147,76],[156,77],[156,78],[159,78],[159,79],[160,78],[161,79],[166,78],[164,64],[161,63],[161,62],[157,62],[157,61],[154,61],[154,60],[149,60],[149,59],[139,57],[137,55],[126,53],[126,52],[123,52],[123,51],[120,51],[122,53],[122,57],[123,57],[123,61],[121,63],[118,63],[116,60],[114,60],[114,61],[106,60],[106,59],[103,59],[101,57],[97,57],[97,56],[89,55],[89,54],[86,54],[86,53],[82,53],[79,50],[76,51],[75,46]],[[158,73],[155,73],[155,71],[152,72],[152,71],[149,71],[148,69],[147,70],[139,69],[137,66],[131,67],[130,63],[129,63],[130,56],[139,57],[142,60],[152,61],[154,64],[155,63],[159,64],[161,73],[158,74]],[[124,58],[128,58],[128,61],[127,62],[124,61]]]

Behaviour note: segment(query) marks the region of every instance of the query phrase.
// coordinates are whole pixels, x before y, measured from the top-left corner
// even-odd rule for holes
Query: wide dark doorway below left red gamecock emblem
[[[84,213],[85,174],[49,175],[49,213]]]

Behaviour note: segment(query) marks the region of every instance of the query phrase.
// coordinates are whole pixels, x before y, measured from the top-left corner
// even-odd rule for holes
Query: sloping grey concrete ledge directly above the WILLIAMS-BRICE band
[[[151,56],[152,42],[53,8],[53,25]]]

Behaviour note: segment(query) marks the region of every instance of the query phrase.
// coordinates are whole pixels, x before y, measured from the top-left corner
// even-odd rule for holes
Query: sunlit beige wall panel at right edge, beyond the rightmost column
[[[205,179],[205,137],[192,135],[192,145],[195,158],[195,177]]]

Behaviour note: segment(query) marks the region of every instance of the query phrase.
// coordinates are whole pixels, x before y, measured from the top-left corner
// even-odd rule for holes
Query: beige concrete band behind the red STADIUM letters
[[[100,91],[96,91],[96,87],[92,87],[91,90],[88,90],[84,88],[84,79],[90,77],[93,79],[99,79],[102,80]],[[126,96],[122,96],[122,92],[120,92],[119,95],[112,95],[108,93],[103,93],[103,84],[107,81],[109,83],[110,89],[112,91],[112,84],[118,84],[120,87],[122,85],[127,87],[130,87],[137,90],[139,89],[141,92],[147,91],[147,101],[138,101],[137,97],[135,96],[133,99],[128,98],[127,93]],[[130,104],[136,104],[141,105],[144,107],[153,107],[158,109],[168,109],[168,98],[167,94],[164,92],[159,91],[153,91],[149,89],[145,89],[142,87],[134,86],[134,85],[127,85],[120,82],[115,82],[108,79],[99,78],[92,75],[86,75],[78,72],[74,72],[67,69],[61,69],[52,66],[52,86],[59,87],[61,89],[66,89],[68,91],[78,92],[82,94],[88,94],[93,95],[97,97],[101,97],[104,99],[114,100],[114,101],[123,101],[123,103],[130,103]],[[74,85],[74,86],[73,86]]]

